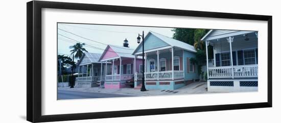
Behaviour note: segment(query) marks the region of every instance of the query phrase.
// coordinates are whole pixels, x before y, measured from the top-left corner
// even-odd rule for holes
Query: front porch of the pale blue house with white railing
[[[179,80],[184,79],[183,50],[176,47],[162,48],[145,53],[145,80]],[[138,54],[142,55],[142,54]],[[136,56],[138,56],[136,55]],[[134,66],[134,80],[142,80],[142,63]]]

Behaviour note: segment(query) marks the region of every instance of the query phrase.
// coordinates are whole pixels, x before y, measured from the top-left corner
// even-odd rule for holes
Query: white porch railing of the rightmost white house
[[[257,65],[238,65],[222,67],[209,67],[209,78],[234,78],[238,77],[257,77]]]

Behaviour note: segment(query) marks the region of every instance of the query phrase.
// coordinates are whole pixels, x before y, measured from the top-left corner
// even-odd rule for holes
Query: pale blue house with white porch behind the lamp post
[[[142,56],[142,43],[133,52],[135,58]],[[190,62],[195,57],[194,46],[151,31],[144,45],[146,89],[174,90],[199,79],[196,65]],[[134,66],[135,88],[142,83],[142,66],[142,62]]]

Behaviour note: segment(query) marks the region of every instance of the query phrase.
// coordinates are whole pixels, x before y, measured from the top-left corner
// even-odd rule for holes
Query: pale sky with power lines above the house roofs
[[[103,53],[106,44],[123,46],[127,38],[129,46],[135,49],[138,45],[136,38],[144,31],[145,36],[153,31],[168,37],[173,37],[173,28],[112,26],[101,24],[58,23],[58,54],[70,55],[69,46],[82,42],[89,53]],[[86,39],[85,39],[86,38]],[[75,60],[77,61],[77,60]]]

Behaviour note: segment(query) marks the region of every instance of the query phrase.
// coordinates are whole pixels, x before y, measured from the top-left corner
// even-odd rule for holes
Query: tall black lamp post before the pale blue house
[[[143,77],[142,77],[142,88],[140,88],[140,91],[146,91],[146,86],[145,86],[145,34],[143,31],[143,35],[139,35],[137,36],[137,43],[140,43],[140,36],[142,36],[143,38]]]

